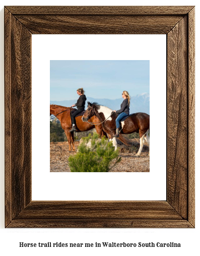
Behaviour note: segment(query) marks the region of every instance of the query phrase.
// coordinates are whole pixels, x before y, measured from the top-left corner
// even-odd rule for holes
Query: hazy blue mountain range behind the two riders
[[[86,107],[87,107],[87,101],[90,101],[91,103],[97,102],[98,104],[106,106],[112,110],[119,110],[120,105],[123,101],[123,98],[121,97],[117,99],[108,99],[108,98],[87,97]],[[77,99],[61,100],[61,101],[50,100],[50,104],[60,105],[63,107],[71,107],[76,102],[77,102]],[[137,113],[137,112],[150,114],[150,94],[149,93],[145,92],[145,93],[138,94],[131,97],[130,114]]]

